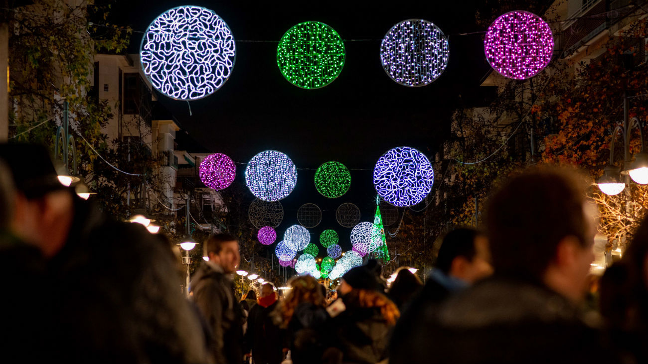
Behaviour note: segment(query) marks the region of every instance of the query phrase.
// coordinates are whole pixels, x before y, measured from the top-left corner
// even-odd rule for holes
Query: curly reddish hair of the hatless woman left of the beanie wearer
[[[292,288],[288,296],[277,307],[281,327],[286,328],[292,319],[295,308],[302,302],[310,302],[315,306],[324,307],[325,297],[322,295],[320,284],[310,275],[295,277],[288,282]]]

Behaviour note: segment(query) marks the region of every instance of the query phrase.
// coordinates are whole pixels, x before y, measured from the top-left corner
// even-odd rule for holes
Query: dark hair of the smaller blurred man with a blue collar
[[[472,261],[475,256],[475,238],[480,234],[479,231],[471,227],[459,227],[450,231],[441,242],[434,266],[448,274],[452,268],[452,261],[457,256],[463,256]]]

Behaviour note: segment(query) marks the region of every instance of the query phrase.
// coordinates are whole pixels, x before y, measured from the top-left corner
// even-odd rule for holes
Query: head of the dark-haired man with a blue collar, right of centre
[[[443,238],[435,267],[446,275],[472,284],[491,275],[488,240],[478,230],[459,227]]]

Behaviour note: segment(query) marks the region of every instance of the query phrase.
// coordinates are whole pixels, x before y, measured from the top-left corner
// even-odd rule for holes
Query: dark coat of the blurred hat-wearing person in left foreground
[[[115,222],[75,198],[62,250],[47,266],[52,363],[198,363],[208,360],[177,260],[163,236]],[[43,304],[47,302],[47,304]],[[41,347],[41,344],[39,344]]]

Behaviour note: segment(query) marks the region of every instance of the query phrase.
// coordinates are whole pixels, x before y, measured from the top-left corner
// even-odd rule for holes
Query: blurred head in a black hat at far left
[[[16,194],[11,229],[43,255],[56,255],[67,241],[74,195],[58,180],[44,146],[0,144],[0,159],[11,170]]]

